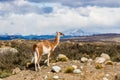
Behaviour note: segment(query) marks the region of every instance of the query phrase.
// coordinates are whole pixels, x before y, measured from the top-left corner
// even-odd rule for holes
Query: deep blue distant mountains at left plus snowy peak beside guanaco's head
[[[81,29],[69,29],[66,31],[63,31],[65,34],[64,37],[61,37],[63,39],[68,39],[68,38],[74,38],[77,36],[88,36],[88,35],[93,35],[92,33],[85,32]],[[13,39],[26,39],[26,40],[44,40],[44,39],[54,39],[55,33],[52,35],[9,35],[9,34],[1,34],[0,35],[0,40],[13,40]]]

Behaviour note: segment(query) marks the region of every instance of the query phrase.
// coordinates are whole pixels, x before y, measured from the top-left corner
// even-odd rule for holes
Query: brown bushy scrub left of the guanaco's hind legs
[[[0,71],[1,73],[10,72],[12,69],[19,67],[24,69],[26,62],[31,61],[32,57],[32,45],[33,43],[29,41],[18,42],[17,40],[4,41],[5,44],[8,44],[8,47],[16,49],[18,52],[14,53],[7,51],[5,53],[0,53]],[[9,45],[9,43],[11,43]],[[2,74],[0,74],[2,75]]]

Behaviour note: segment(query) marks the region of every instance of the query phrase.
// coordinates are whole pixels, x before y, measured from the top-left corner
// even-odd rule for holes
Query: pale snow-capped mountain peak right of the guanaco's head
[[[69,30],[63,31],[63,33],[69,36],[88,36],[88,35],[95,34],[92,32],[85,32],[82,29],[69,29]]]

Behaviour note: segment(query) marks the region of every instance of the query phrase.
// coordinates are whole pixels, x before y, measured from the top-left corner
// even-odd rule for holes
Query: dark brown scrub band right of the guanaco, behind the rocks
[[[81,57],[95,59],[100,56],[101,53],[107,53],[113,61],[120,61],[120,43],[62,42],[55,49],[54,53],[54,57],[58,54],[65,54],[72,60],[80,60]]]

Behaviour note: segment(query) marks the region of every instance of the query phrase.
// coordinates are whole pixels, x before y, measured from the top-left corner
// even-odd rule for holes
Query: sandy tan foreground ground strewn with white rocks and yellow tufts
[[[3,80],[120,80],[120,62],[112,62],[110,57],[100,56],[95,60],[67,60],[51,62],[50,66],[42,65],[39,72],[34,67],[26,70],[14,70],[14,75]],[[53,70],[57,66],[58,70]],[[53,72],[54,71],[54,72]]]

